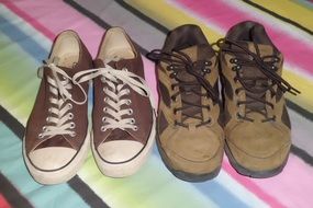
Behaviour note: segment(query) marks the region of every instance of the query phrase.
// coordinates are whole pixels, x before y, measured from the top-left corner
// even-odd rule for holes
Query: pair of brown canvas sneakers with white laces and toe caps
[[[82,165],[90,146],[96,163],[108,176],[127,176],[141,167],[154,143],[156,118],[142,57],[122,28],[107,31],[96,60],[77,33],[60,33],[38,76],[42,82],[23,140],[24,161],[35,181],[68,181]]]

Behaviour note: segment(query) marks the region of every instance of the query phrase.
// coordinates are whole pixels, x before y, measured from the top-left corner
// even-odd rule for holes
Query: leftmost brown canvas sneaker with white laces
[[[92,67],[92,58],[74,31],[60,33],[42,78],[23,140],[26,166],[35,181],[57,184],[71,178],[89,148],[88,83],[78,84],[76,72]]]

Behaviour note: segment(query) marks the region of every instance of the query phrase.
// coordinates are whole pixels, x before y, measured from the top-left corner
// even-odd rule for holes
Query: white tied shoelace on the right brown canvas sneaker
[[[137,130],[138,127],[135,125],[136,120],[133,117],[130,117],[133,114],[133,109],[130,107],[132,101],[125,96],[130,94],[128,88],[131,88],[142,96],[149,97],[150,103],[154,106],[150,91],[145,80],[133,72],[127,71],[126,68],[116,70],[109,65],[105,65],[103,68],[78,72],[74,76],[74,80],[81,77],[79,81],[77,81],[78,83],[81,83],[99,76],[101,77],[101,81],[109,85],[109,88],[103,88],[103,91],[107,94],[104,102],[108,104],[108,107],[103,108],[103,113],[109,116],[102,117],[103,125],[101,126],[101,131],[115,128],[122,130],[127,128]],[[123,118],[125,115],[127,115],[128,118]]]

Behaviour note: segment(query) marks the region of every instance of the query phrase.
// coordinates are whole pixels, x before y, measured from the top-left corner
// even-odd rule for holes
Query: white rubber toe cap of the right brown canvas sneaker
[[[100,145],[98,152],[103,160],[118,163],[134,158],[143,148],[144,145],[138,141],[114,140]]]

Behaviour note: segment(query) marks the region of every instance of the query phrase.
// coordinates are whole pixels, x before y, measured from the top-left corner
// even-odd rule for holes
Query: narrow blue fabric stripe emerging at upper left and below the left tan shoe
[[[1,16],[1,14],[0,14]],[[20,31],[14,25],[10,24],[9,21],[7,21],[4,18],[0,18],[0,23],[4,21],[5,23],[5,34],[14,42],[21,45],[21,47],[27,51],[33,58],[42,60],[44,59],[45,55],[47,55],[47,50],[43,48],[37,42],[33,41],[32,37],[25,35],[22,31]],[[0,24],[0,26],[1,26]],[[0,28],[2,28],[1,26]],[[26,39],[26,41],[22,41]],[[22,42],[21,42],[22,41]],[[89,99],[89,104],[91,104],[91,99]],[[154,154],[156,154],[159,158],[159,154],[157,153],[156,149],[154,150]],[[160,158],[159,158],[160,160]],[[192,184],[197,189],[199,189],[204,196],[211,198],[214,203],[217,205],[221,205],[221,207],[241,207],[245,208],[247,205],[243,203],[241,199],[235,197],[231,192],[228,192],[226,188],[221,186],[216,180],[206,182],[206,183],[199,183],[199,184]]]

